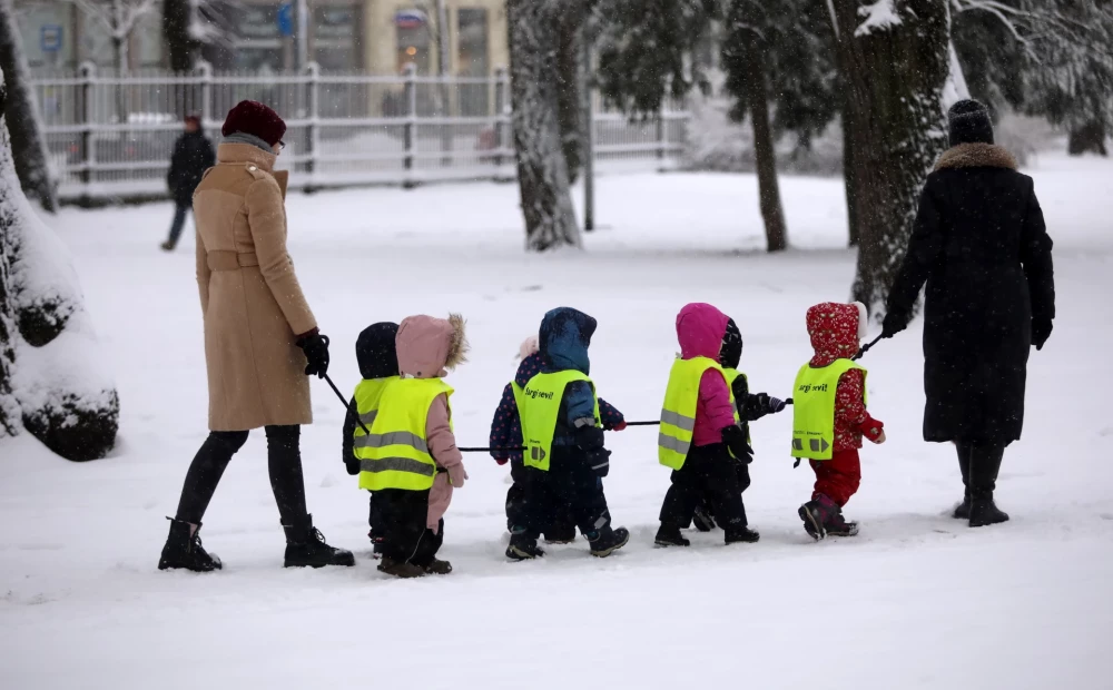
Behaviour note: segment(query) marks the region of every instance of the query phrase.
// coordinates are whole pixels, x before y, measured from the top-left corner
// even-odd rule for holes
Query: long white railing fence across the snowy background
[[[62,197],[159,194],[181,115],[197,114],[218,138],[225,114],[249,98],[286,120],[279,166],[302,188],[359,184],[414,185],[435,179],[513,177],[510,81],[491,77],[323,73],[77,73],[32,79]],[[631,122],[593,96],[597,169],[652,169],[674,164],[689,114],[670,102],[657,119]]]

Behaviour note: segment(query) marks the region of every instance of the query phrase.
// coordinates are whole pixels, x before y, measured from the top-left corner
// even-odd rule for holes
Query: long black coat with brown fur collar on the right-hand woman
[[[1032,178],[1003,148],[952,148],[928,176],[888,312],[927,283],[925,441],[1021,437],[1033,319],[1055,316],[1052,240]]]

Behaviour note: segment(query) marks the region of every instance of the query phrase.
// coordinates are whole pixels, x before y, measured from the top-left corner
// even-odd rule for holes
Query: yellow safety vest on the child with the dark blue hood
[[[564,397],[564,388],[573,381],[585,381],[591,386],[591,396],[595,401],[595,424],[599,425],[595,384],[580,372],[565,369],[552,374],[538,374],[526,382],[524,388],[516,383],[512,386],[514,402],[518,403],[518,416],[522,422],[522,440],[525,445],[523,463],[526,467],[549,472],[560,402]]]

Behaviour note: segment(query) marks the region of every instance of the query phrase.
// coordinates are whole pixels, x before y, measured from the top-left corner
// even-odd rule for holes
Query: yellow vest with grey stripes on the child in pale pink
[[[383,390],[371,435],[356,430],[359,489],[432,489],[436,461],[429,452],[425,423],[436,396],[452,393],[440,378],[396,378]]]

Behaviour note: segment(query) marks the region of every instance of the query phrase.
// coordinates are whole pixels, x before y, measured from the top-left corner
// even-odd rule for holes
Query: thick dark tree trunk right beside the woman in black
[[[924,180],[946,145],[947,4],[892,0],[897,21],[859,30],[857,0],[833,2],[851,118],[859,240],[853,293],[877,316],[907,249]]]

